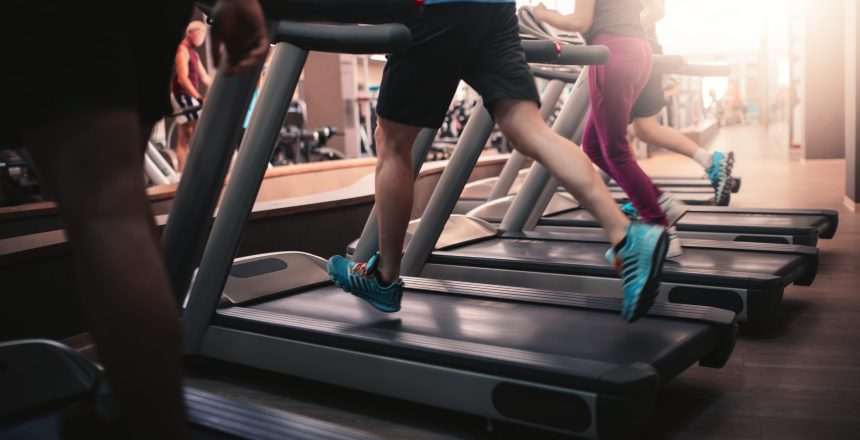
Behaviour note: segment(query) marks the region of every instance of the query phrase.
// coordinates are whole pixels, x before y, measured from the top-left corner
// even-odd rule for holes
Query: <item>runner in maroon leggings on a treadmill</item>
[[[612,51],[609,62],[588,68],[591,114],[582,134],[588,157],[627,193],[643,221],[668,229],[668,257],[682,253],[675,223],[684,205],[660,191],[639,168],[627,139],[630,109],[651,76],[651,46],[639,13],[639,0],[576,0],[572,14],[562,15],[543,3],[535,17],[567,31],[583,33],[589,44]]]

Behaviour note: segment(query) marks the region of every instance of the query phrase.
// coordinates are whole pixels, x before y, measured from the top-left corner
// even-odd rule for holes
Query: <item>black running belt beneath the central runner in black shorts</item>
[[[487,286],[493,287],[507,289]],[[604,390],[653,385],[647,368],[623,384],[607,376],[619,368],[636,371],[640,367],[633,364],[641,362],[654,365],[661,380],[668,380],[679,372],[678,365],[690,365],[707,353],[717,337],[703,331],[708,324],[696,321],[646,316],[623,325],[615,310],[410,289],[404,292],[401,311],[385,314],[333,285],[247,308],[221,309],[218,315],[218,324],[238,329],[243,321],[251,326],[269,321],[267,333],[280,327],[289,337],[309,342]]]

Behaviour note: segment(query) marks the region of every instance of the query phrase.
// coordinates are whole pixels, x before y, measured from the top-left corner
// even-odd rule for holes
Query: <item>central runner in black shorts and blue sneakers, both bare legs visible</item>
[[[630,222],[594,167],[538,112],[534,77],[520,44],[513,0],[425,0],[410,24],[413,43],[392,54],[377,104],[376,206],[380,251],[367,262],[329,260],[332,280],[384,312],[400,309],[400,258],[412,209],[412,144],[422,127],[438,128],[465,80],[483,97],[504,135],[544,165],[606,229],[621,271],[622,317],[631,322],[653,303],[666,254],[661,225]]]

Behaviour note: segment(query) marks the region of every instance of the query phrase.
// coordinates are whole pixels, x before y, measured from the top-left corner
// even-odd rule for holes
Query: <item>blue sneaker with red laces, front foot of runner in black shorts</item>
[[[379,252],[370,260],[354,262],[335,255],[328,260],[328,273],[335,286],[344,292],[349,292],[370,303],[377,310],[393,313],[400,310],[400,299],[403,298],[403,280],[399,279],[383,286],[377,277],[376,266],[379,263]]]

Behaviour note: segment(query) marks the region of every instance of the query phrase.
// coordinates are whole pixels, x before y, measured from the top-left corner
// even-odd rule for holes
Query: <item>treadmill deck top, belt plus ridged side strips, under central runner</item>
[[[713,342],[716,339],[733,340],[735,331],[734,315],[729,312],[696,306],[658,305],[654,316],[647,318],[641,325],[637,323],[629,327],[629,333],[600,335],[601,329],[608,331],[618,328],[620,301],[609,298],[586,300],[586,296],[569,293],[555,293],[556,299],[553,300],[553,294],[549,292],[510,289],[513,292],[505,294],[507,299],[520,302],[511,301],[505,305],[498,301],[501,294],[492,293],[494,286],[411,278],[407,279],[407,283],[407,288],[418,287],[421,290],[406,292],[404,309],[394,315],[370,312],[359,300],[329,286],[312,291],[314,298],[307,296],[307,293],[296,293],[247,308],[223,308],[218,311],[215,321],[216,324],[275,332],[285,337],[348,350],[365,350],[383,356],[500,372],[544,383],[585,389],[593,389],[599,383],[599,388],[603,390],[617,389],[618,392],[630,392],[636,388],[632,386],[637,382],[650,387],[653,386],[652,381],[657,380],[652,368],[645,364],[634,365],[635,362],[625,359],[647,359],[659,363],[664,354],[664,344],[679,346],[702,343],[705,347],[714,347],[719,345]],[[470,288],[473,289],[475,299],[469,298]],[[465,290],[466,293],[453,295],[449,292],[452,289]],[[483,294],[478,290],[483,290]],[[542,300],[534,301],[541,296]],[[566,306],[562,304],[565,301],[559,299],[562,296],[569,297]],[[497,301],[493,305],[483,304],[494,299]],[[540,305],[540,302],[545,305]],[[589,308],[597,305],[603,307],[604,313],[593,309],[578,310],[571,307],[573,304],[579,304],[579,307],[587,305]],[[513,307],[517,309],[512,310]],[[487,308],[490,311],[484,312]],[[673,311],[680,312],[682,318],[661,319],[661,314],[669,316]],[[707,324],[703,324],[702,320]],[[548,327],[551,330],[534,330],[538,324],[546,324],[547,321],[550,321]],[[660,328],[656,321],[660,321]],[[701,329],[703,325],[718,330],[691,330]],[[474,331],[476,335],[469,335],[474,326],[477,326]],[[506,346],[491,343],[493,337],[501,336],[500,332],[510,331],[506,326],[520,328],[522,334],[502,333],[506,337]],[[452,328],[454,330],[450,330]],[[564,331],[576,339],[558,340]],[[594,335],[590,335],[591,332]],[[717,332],[720,335],[714,334]],[[696,340],[686,340],[690,335],[696,335],[693,337]],[[700,340],[702,337],[711,342]],[[530,345],[535,340],[545,340],[549,345],[535,352],[533,345]],[[577,347],[580,343],[583,346]],[[601,343],[605,346],[599,346]],[[629,345],[632,352],[604,357],[611,362],[596,360],[611,351],[607,347],[618,348],[618,344]],[[639,352],[636,352],[637,349]],[[713,351],[725,352],[725,347],[714,348]],[[704,363],[720,366],[725,362],[725,359],[719,359],[719,355],[712,358]],[[625,362],[627,365],[624,365]],[[625,371],[623,374],[622,370]],[[574,374],[571,375],[571,372]],[[624,383],[616,383],[621,377]]]

